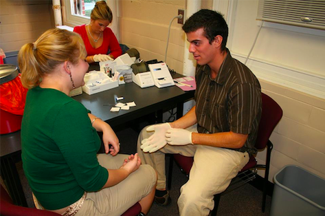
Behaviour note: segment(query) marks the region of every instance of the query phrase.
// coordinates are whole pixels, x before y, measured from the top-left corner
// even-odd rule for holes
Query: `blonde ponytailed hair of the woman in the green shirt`
[[[34,43],[26,43],[18,54],[21,83],[27,89],[41,83],[44,74],[50,74],[65,61],[78,64],[87,52],[79,34],[54,28],[44,32]]]

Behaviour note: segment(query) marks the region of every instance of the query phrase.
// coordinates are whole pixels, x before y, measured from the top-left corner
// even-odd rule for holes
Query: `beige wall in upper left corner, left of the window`
[[[0,47],[4,52],[20,50],[54,28],[52,1],[1,0]]]

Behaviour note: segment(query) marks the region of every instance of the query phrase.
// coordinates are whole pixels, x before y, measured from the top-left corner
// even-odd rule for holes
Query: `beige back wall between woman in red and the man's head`
[[[212,8],[212,1],[202,1],[203,8]],[[121,43],[139,50],[144,61],[164,61],[168,38],[168,27],[179,9],[186,8],[186,0],[120,1]],[[183,73],[183,55],[186,36],[177,19],[172,21],[166,63],[170,69]]]

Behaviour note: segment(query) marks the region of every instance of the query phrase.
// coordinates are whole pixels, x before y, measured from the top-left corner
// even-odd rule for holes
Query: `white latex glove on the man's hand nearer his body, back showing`
[[[166,141],[172,145],[193,144],[192,132],[186,129],[169,129],[166,131]]]

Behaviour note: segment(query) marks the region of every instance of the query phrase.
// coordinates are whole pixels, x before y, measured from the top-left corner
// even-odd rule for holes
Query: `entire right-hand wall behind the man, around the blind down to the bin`
[[[234,58],[245,62],[258,32],[258,1],[236,1],[234,25],[229,35]],[[305,32],[314,32],[304,29]],[[301,166],[325,178],[325,31],[318,35],[262,28],[247,66],[260,80],[262,91],[271,96],[284,111],[284,116],[271,135],[273,175],[287,164]],[[324,36],[322,36],[324,35]],[[320,91],[310,89],[303,78],[317,78]],[[274,78],[274,76],[277,76]],[[285,78],[289,77],[289,80]],[[297,81],[297,83],[296,83]],[[323,86],[322,86],[323,85]],[[265,161],[266,151],[258,153]],[[260,172],[260,175],[264,172]]]

